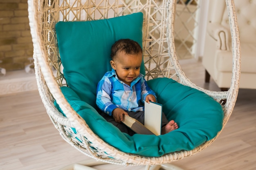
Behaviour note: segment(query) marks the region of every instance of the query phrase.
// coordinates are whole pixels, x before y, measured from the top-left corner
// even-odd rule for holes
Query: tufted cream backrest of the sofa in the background
[[[234,4],[236,7],[240,41],[256,43],[256,1],[234,0]],[[211,22],[217,22],[229,30],[229,16],[225,1],[210,0],[209,20]]]

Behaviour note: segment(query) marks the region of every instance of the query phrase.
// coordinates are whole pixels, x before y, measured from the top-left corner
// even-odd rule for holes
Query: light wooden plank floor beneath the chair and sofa
[[[204,68],[195,60],[180,61],[196,84],[204,84]],[[198,74],[199,73],[199,74]],[[240,89],[231,118],[206,150],[173,162],[184,170],[256,170],[256,90]],[[0,97],[0,170],[58,170],[89,159],[58,135],[37,91]],[[143,170],[142,166],[103,165],[99,170]]]

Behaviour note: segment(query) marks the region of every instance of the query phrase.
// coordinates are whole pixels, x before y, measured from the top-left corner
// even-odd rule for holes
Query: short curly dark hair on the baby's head
[[[131,55],[142,53],[139,43],[130,39],[120,39],[112,45],[110,54],[112,60],[120,51],[124,51],[126,54]]]

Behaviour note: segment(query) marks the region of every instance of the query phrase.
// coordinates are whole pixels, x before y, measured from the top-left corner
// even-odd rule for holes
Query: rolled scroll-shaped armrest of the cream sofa
[[[217,41],[217,49],[229,51],[229,32],[224,26],[218,23],[209,23],[207,33]]]

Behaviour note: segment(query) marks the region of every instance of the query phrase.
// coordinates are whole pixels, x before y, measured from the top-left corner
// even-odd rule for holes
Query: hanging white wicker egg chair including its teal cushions
[[[173,38],[175,0],[28,0],[43,104],[61,137],[95,160],[71,169],[101,163],[179,169],[168,163],[200,152],[220,135],[234,109],[240,79],[234,2],[226,4],[233,75],[229,90],[220,92],[197,86],[180,67]],[[99,115],[97,83],[111,69],[112,44],[122,38],[141,45],[141,73],[178,129],[159,136],[129,136]]]

